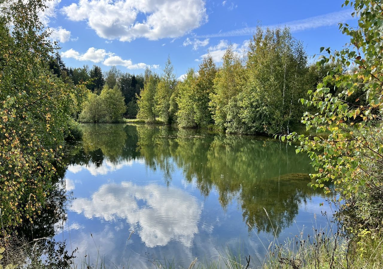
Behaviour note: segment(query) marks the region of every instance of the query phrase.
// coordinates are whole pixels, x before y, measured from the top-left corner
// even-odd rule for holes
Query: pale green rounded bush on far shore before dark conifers
[[[119,122],[126,111],[124,97],[115,86],[110,89],[104,86],[101,94],[88,93],[88,99],[83,104],[79,120],[82,122]]]

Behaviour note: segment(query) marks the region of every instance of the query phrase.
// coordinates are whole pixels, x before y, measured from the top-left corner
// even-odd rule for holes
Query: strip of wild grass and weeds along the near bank
[[[265,210],[265,214],[267,214]],[[324,213],[326,215],[326,213]],[[327,215],[326,215],[327,217]],[[229,248],[223,248],[217,256],[205,258],[201,261],[195,258],[190,261],[188,267],[179,266],[174,259],[163,260],[149,259],[151,268],[155,269],[381,269],[383,268],[383,229],[370,231],[359,229],[353,233],[347,232],[345,227],[337,220],[327,217],[329,224],[326,229],[312,227],[310,234],[303,230],[299,235],[291,236],[287,241],[280,243],[277,239],[278,227],[273,227],[274,237],[268,245],[260,240],[265,249],[264,259],[250,253],[244,256],[243,251],[238,249],[236,253]],[[257,232],[254,231],[255,235]],[[92,235],[91,235],[92,236]],[[92,236],[93,238],[93,236]],[[128,240],[130,239],[130,236]],[[39,240],[44,240],[41,238]],[[47,262],[43,260],[46,253],[37,251],[36,243],[25,243],[13,241],[9,237],[0,241],[0,268],[71,268],[71,269],[129,269],[135,268],[128,262],[117,265],[118,261],[109,261],[101,256],[99,248],[93,238],[97,249],[97,257],[94,259],[86,254],[78,263],[67,260],[75,256],[63,254],[51,255],[52,259]],[[15,243],[16,242],[16,243]],[[56,243],[57,244],[57,243]],[[52,250],[50,248],[50,251]],[[60,249],[53,248],[53,249]],[[51,254],[51,253],[48,253]],[[76,254],[76,253],[75,253]],[[65,258],[69,257],[69,258]],[[124,257],[121,257],[121,259]],[[258,263],[255,264],[255,262]],[[53,266],[55,265],[55,266]],[[56,266],[57,265],[57,266]],[[53,267],[52,267],[53,266]],[[66,267],[65,267],[66,266]]]

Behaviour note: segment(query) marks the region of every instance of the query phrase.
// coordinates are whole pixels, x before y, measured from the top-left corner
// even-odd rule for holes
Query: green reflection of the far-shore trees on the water
[[[290,226],[300,204],[322,194],[308,186],[308,158],[273,139],[143,124],[82,128],[83,147],[70,156],[69,164],[97,170],[103,163],[118,166],[140,159],[160,170],[168,185],[174,171],[181,169],[185,181],[194,183],[203,196],[216,191],[224,210],[234,200],[239,202],[243,221],[258,232]]]

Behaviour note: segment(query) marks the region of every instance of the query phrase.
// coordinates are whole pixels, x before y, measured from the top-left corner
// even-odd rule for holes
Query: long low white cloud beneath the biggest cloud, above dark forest
[[[64,58],[74,58],[80,61],[92,61],[95,63],[103,62],[106,66],[120,65],[128,69],[145,69],[146,67],[159,68],[159,65],[147,65],[144,63],[133,64],[130,59],[123,60],[114,53],[106,52],[105,49],[95,49],[94,47],[90,47],[84,54],[80,54],[80,52],[75,51],[74,49],[69,49],[61,52],[61,56]]]

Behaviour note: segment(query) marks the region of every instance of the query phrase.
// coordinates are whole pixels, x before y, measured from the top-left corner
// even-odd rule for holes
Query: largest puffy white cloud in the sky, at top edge
[[[87,21],[98,36],[132,41],[180,37],[207,21],[203,0],[79,0],[62,8],[72,21]],[[138,14],[146,18],[137,20]]]

